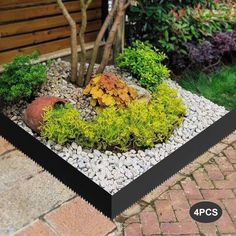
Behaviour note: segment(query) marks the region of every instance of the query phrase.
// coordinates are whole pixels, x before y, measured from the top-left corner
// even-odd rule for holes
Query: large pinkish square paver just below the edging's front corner
[[[50,212],[45,220],[60,235],[103,236],[115,225],[80,197]]]

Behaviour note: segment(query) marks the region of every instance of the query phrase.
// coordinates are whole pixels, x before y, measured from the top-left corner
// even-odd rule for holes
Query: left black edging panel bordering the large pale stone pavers
[[[111,195],[108,192],[2,113],[0,113],[0,136],[94,205],[104,215],[111,216]]]

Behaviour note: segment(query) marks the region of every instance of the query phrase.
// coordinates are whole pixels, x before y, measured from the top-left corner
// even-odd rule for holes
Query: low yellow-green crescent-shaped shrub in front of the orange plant
[[[127,108],[105,108],[92,121],[82,120],[72,105],[48,108],[41,135],[60,144],[76,141],[83,147],[101,150],[149,148],[166,141],[184,115],[182,100],[163,83],[153,93],[150,104],[133,101]]]

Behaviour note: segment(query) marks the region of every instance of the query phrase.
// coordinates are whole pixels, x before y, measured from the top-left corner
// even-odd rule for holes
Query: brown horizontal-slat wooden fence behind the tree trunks
[[[79,0],[64,0],[79,27]],[[86,42],[95,40],[104,18],[104,0],[94,0],[88,9]],[[70,46],[70,27],[56,0],[0,0],[0,64],[18,54],[37,50],[47,54]]]

